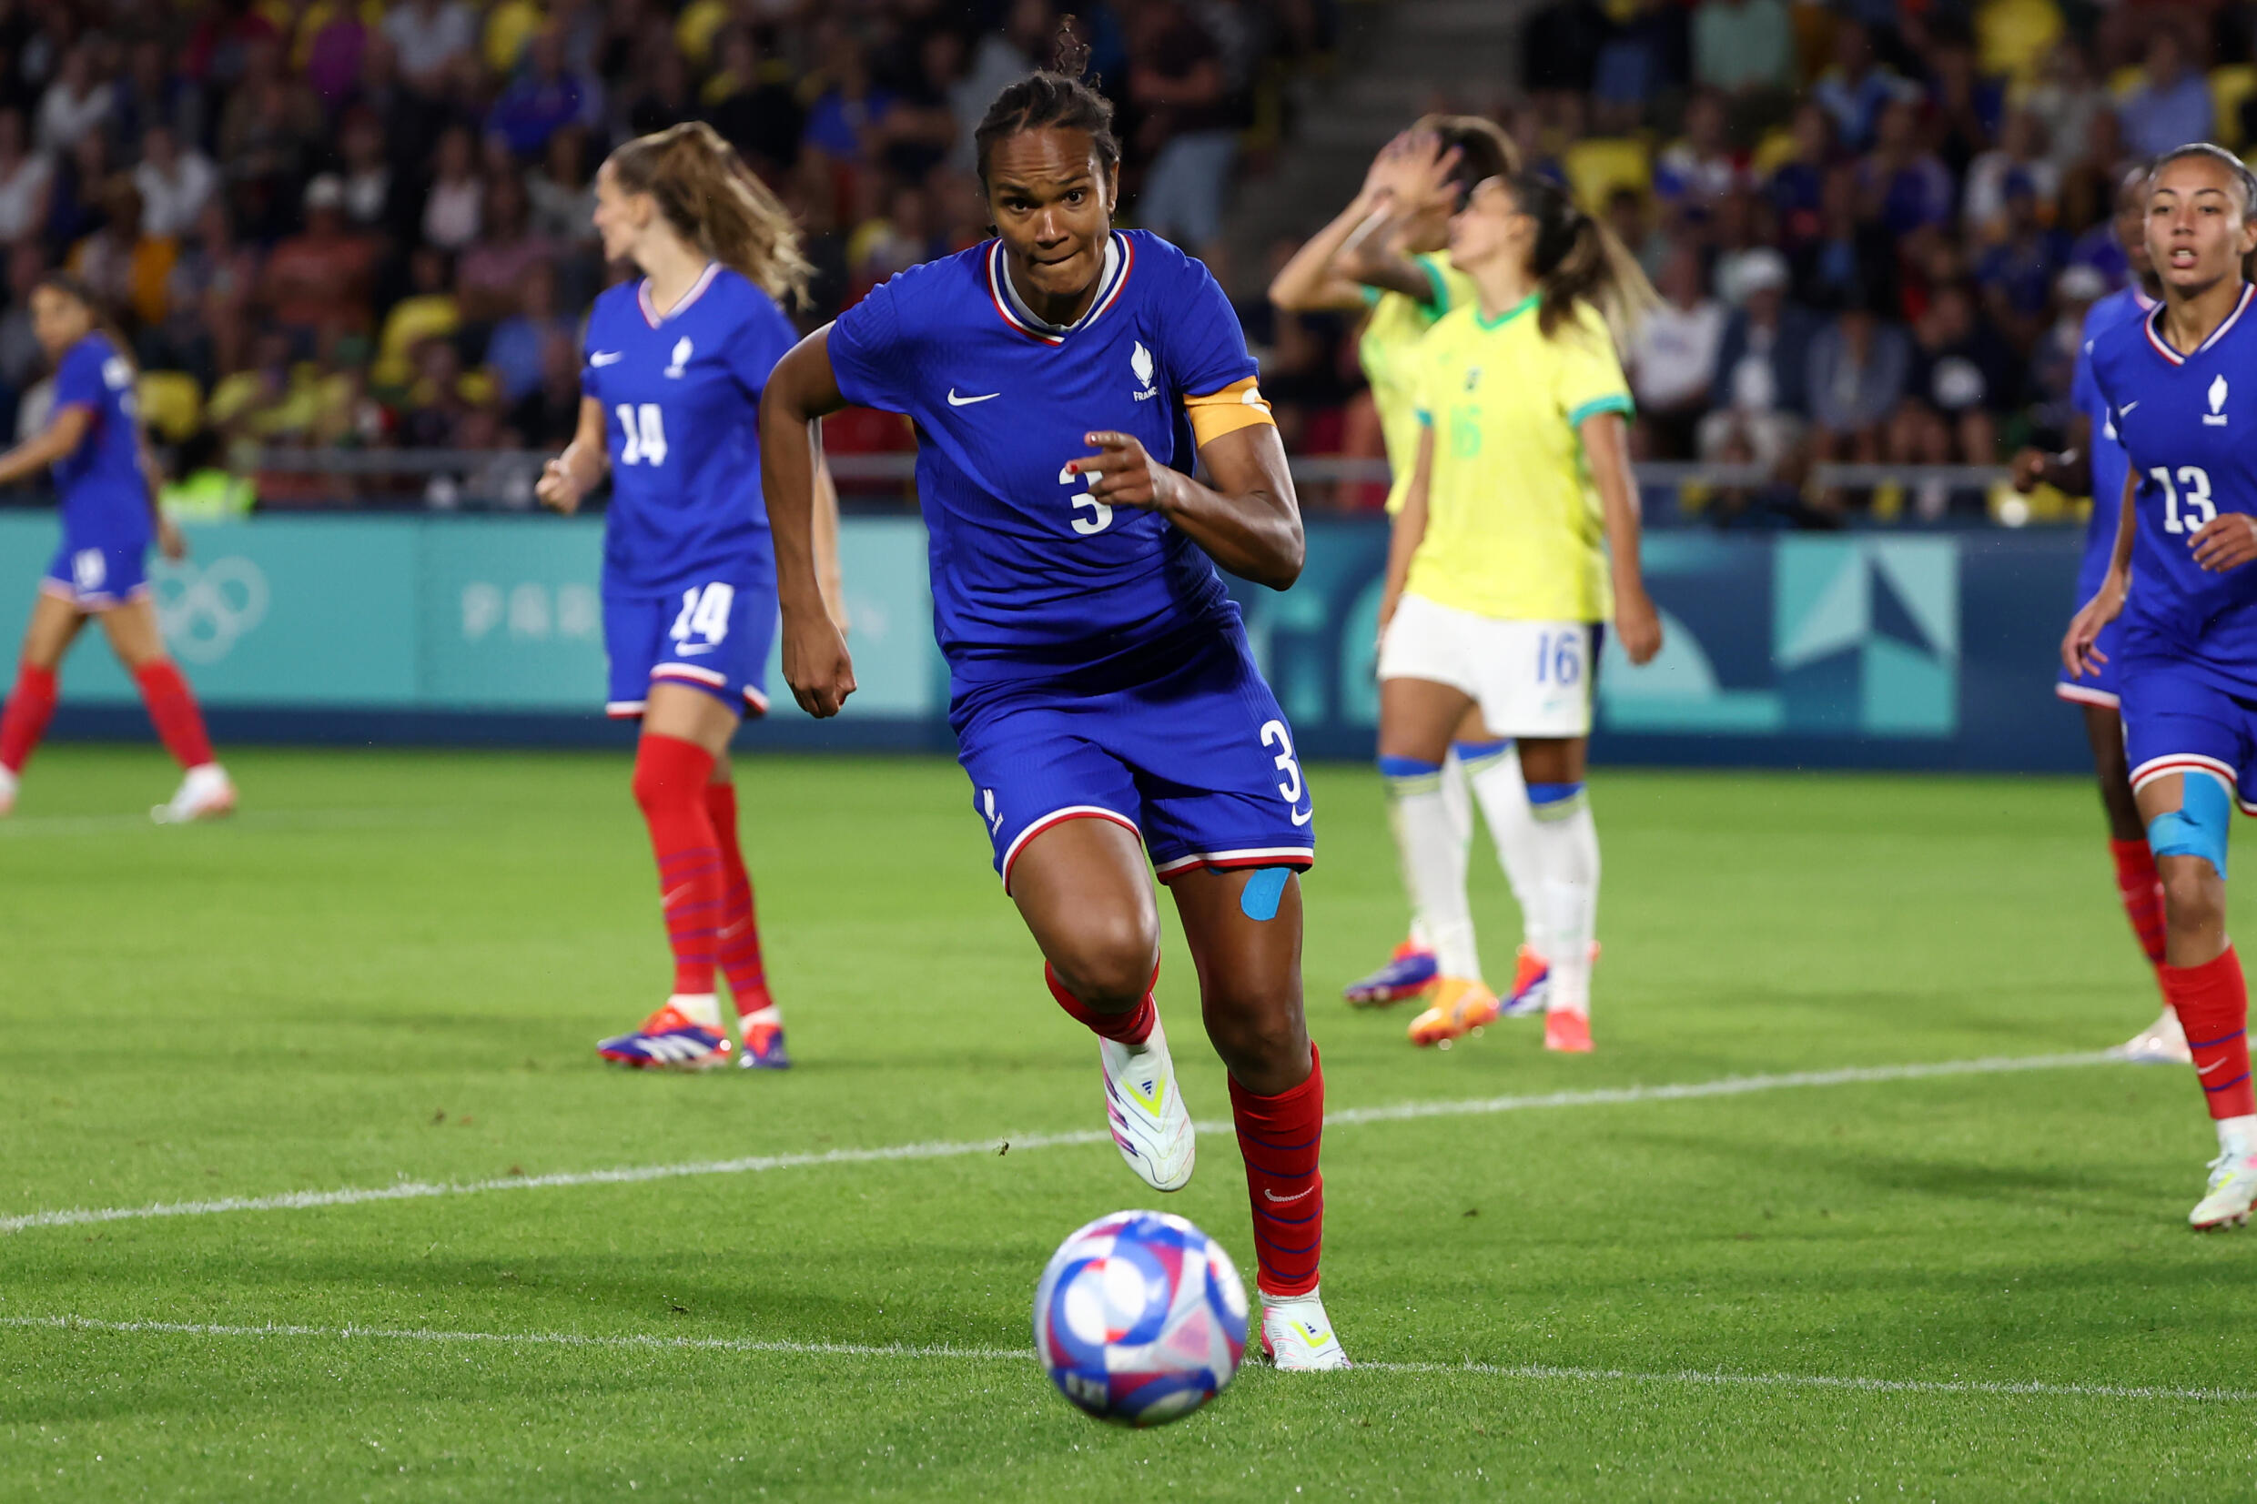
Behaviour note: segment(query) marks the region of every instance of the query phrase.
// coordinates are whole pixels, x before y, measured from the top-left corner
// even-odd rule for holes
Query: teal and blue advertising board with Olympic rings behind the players
[[[235,737],[587,742],[600,719],[603,525],[546,516],[255,519],[196,528],[156,564],[158,613],[214,722]],[[54,519],[0,516],[0,591],[27,609]],[[946,749],[914,516],[846,519],[860,692],[817,726],[783,695],[749,746]],[[2083,767],[2052,695],[2072,609],[2067,532],[1657,532],[1645,570],[1668,645],[1645,667],[1607,649],[1596,753],[1616,762],[1767,767]],[[1368,758],[1386,528],[1311,521],[1286,593],[1232,582],[1296,740]],[[16,618],[20,620],[20,616]],[[65,667],[65,719],[129,731],[135,695],[99,645]]]

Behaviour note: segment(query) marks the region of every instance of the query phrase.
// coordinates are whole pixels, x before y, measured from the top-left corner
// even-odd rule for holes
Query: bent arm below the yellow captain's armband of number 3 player
[[[1198,446],[1214,478],[1201,485],[1144,451],[1133,433],[1083,435],[1097,453],[1068,462],[1108,507],[1149,507],[1192,534],[1207,557],[1241,580],[1282,591],[1300,580],[1307,539],[1284,444],[1268,422],[1219,433]]]

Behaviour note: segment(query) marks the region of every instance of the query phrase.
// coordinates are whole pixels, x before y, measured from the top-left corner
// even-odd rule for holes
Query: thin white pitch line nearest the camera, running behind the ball
[[[0,1317],[0,1328],[36,1328],[59,1333],[160,1335],[160,1337],[309,1337],[334,1342],[404,1342],[404,1344],[481,1344],[524,1348],[627,1348],[648,1353],[785,1353],[799,1357],[955,1357],[971,1362],[1031,1362],[1027,1348],[959,1348],[867,1342],[761,1342],[752,1337],[591,1337],[582,1333],[442,1333],[431,1328],[388,1326],[217,1326],[208,1321],[97,1321],[90,1317]],[[1553,1384],[1709,1384],[1754,1389],[1839,1389],[1851,1394],[1961,1394],[2004,1398],[2067,1400],[2210,1400],[2223,1405],[2257,1405],[2252,1389],[2192,1389],[2173,1384],[2047,1384],[2036,1380],[1930,1380],[1930,1378],[1860,1378],[1833,1373],[1713,1373],[1679,1369],[1641,1373],[1634,1369],[1564,1369],[1555,1364],[1494,1362],[1359,1362],[1363,1373],[1467,1373]]]

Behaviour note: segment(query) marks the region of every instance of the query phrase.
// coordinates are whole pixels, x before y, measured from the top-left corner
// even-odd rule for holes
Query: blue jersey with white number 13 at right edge
[[[2194,354],[2162,309],[2092,340],[2092,383],[2137,474],[2126,658],[2173,658],[2257,695],[2257,564],[2212,575],[2189,543],[2219,512],[2257,512],[2257,289]]]

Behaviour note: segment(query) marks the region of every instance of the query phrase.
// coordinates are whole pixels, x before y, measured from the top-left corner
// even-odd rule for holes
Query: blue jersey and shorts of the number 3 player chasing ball
[[[973,807],[1004,886],[1065,819],[1142,832],[1162,877],[1307,868],[1293,733],[1207,555],[1158,512],[1088,496],[1088,433],[1194,462],[1187,399],[1253,390],[1207,268],[1115,232],[1088,311],[1034,316],[1000,241],[914,266],[828,336],[846,401],[916,422],[934,636]]]

